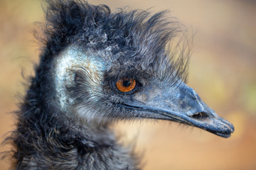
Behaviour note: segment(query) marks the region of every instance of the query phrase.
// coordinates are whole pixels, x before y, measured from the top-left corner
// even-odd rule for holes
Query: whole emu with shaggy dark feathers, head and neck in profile
[[[19,111],[14,169],[140,169],[110,125],[171,120],[230,137],[234,127],[186,85],[188,54],[166,11],[48,1],[40,63]],[[178,46],[180,47],[180,46]]]

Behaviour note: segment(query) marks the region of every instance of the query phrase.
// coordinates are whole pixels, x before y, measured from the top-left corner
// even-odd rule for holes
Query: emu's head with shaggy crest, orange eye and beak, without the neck
[[[74,3],[49,8],[48,46],[63,41],[50,71],[54,96],[70,118],[171,120],[230,137],[233,125],[185,83],[189,50],[179,42],[166,49],[180,30],[165,11],[110,13],[107,6]]]

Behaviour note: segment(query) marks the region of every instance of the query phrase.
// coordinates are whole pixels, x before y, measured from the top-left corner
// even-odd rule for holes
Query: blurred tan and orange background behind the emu
[[[120,123],[124,142],[137,140],[144,169],[256,169],[256,1],[147,0],[89,1],[116,8],[161,11],[196,33],[188,85],[218,115],[235,125],[224,139],[166,121]],[[41,1],[0,1],[0,141],[15,128],[16,94],[24,94],[39,46],[31,31],[44,21]],[[0,152],[10,149],[1,146]],[[0,160],[8,169],[9,160]]]

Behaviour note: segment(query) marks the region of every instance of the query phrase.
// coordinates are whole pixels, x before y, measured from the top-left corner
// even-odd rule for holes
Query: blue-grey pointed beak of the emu
[[[186,84],[169,88],[149,87],[134,95],[132,102],[127,101],[122,106],[136,110],[146,118],[172,120],[221,137],[230,137],[234,132],[234,126],[228,120],[220,118]]]

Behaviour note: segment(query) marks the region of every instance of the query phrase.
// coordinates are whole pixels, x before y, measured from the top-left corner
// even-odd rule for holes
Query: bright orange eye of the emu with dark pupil
[[[130,78],[123,78],[117,81],[117,89],[122,92],[132,91],[136,86],[136,81]]]

